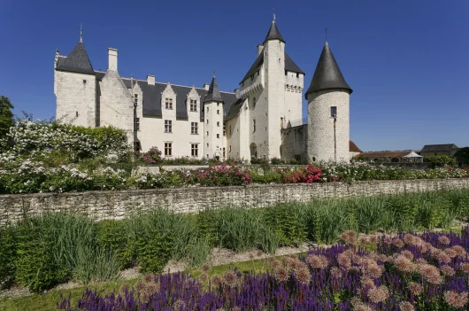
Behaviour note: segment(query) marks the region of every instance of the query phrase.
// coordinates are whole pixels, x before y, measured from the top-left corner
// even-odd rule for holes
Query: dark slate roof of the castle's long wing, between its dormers
[[[96,72],[96,78],[102,80],[104,78],[104,72]],[[122,78],[122,81],[126,85],[127,89],[131,89],[130,79]],[[167,84],[155,82],[155,85],[149,85],[148,82],[142,80],[134,80],[134,83],[138,83],[138,86],[142,89],[143,98],[142,98],[142,112],[143,116],[149,117],[162,117],[161,112],[161,93],[165,90]],[[186,103],[188,98],[188,93],[192,87],[173,85],[171,84],[174,93],[176,93],[176,118],[178,119],[188,119],[188,104]],[[204,101],[204,97],[207,94],[205,89],[196,88],[197,94],[200,96],[201,101]],[[220,92],[219,96],[221,101],[224,102],[223,108],[228,113],[230,111],[231,105],[236,101],[235,93]],[[201,104],[200,109],[200,118],[204,118],[204,106]]]

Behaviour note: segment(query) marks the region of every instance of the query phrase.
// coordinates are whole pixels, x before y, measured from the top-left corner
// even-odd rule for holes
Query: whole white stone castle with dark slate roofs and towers
[[[121,77],[111,48],[107,71],[96,71],[81,36],[68,56],[56,51],[56,117],[122,128],[135,151],[157,146],[165,157],[348,161],[352,89],[327,42],[305,93],[307,124],[304,72],[285,51],[275,19],[257,51],[240,89],[224,92],[215,76],[203,88],[156,82],[150,74]]]

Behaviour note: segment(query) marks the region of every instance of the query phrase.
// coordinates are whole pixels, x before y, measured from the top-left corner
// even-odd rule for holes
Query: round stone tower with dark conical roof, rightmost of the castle
[[[308,101],[307,154],[311,161],[349,161],[352,89],[326,42],[305,97]]]

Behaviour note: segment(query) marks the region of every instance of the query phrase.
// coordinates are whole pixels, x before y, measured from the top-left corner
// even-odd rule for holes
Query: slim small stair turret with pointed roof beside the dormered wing
[[[223,149],[223,99],[215,74],[204,98],[204,157],[222,159]]]

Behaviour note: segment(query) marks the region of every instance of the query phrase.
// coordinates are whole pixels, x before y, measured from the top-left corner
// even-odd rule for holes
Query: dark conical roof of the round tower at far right
[[[324,44],[318,66],[316,66],[310,87],[304,94],[304,97],[307,99],[309,93],[320,89],[347,89],[349,94],[352,92],[349,84],[345,82],[341,69],[339,69],[327,42]]]

